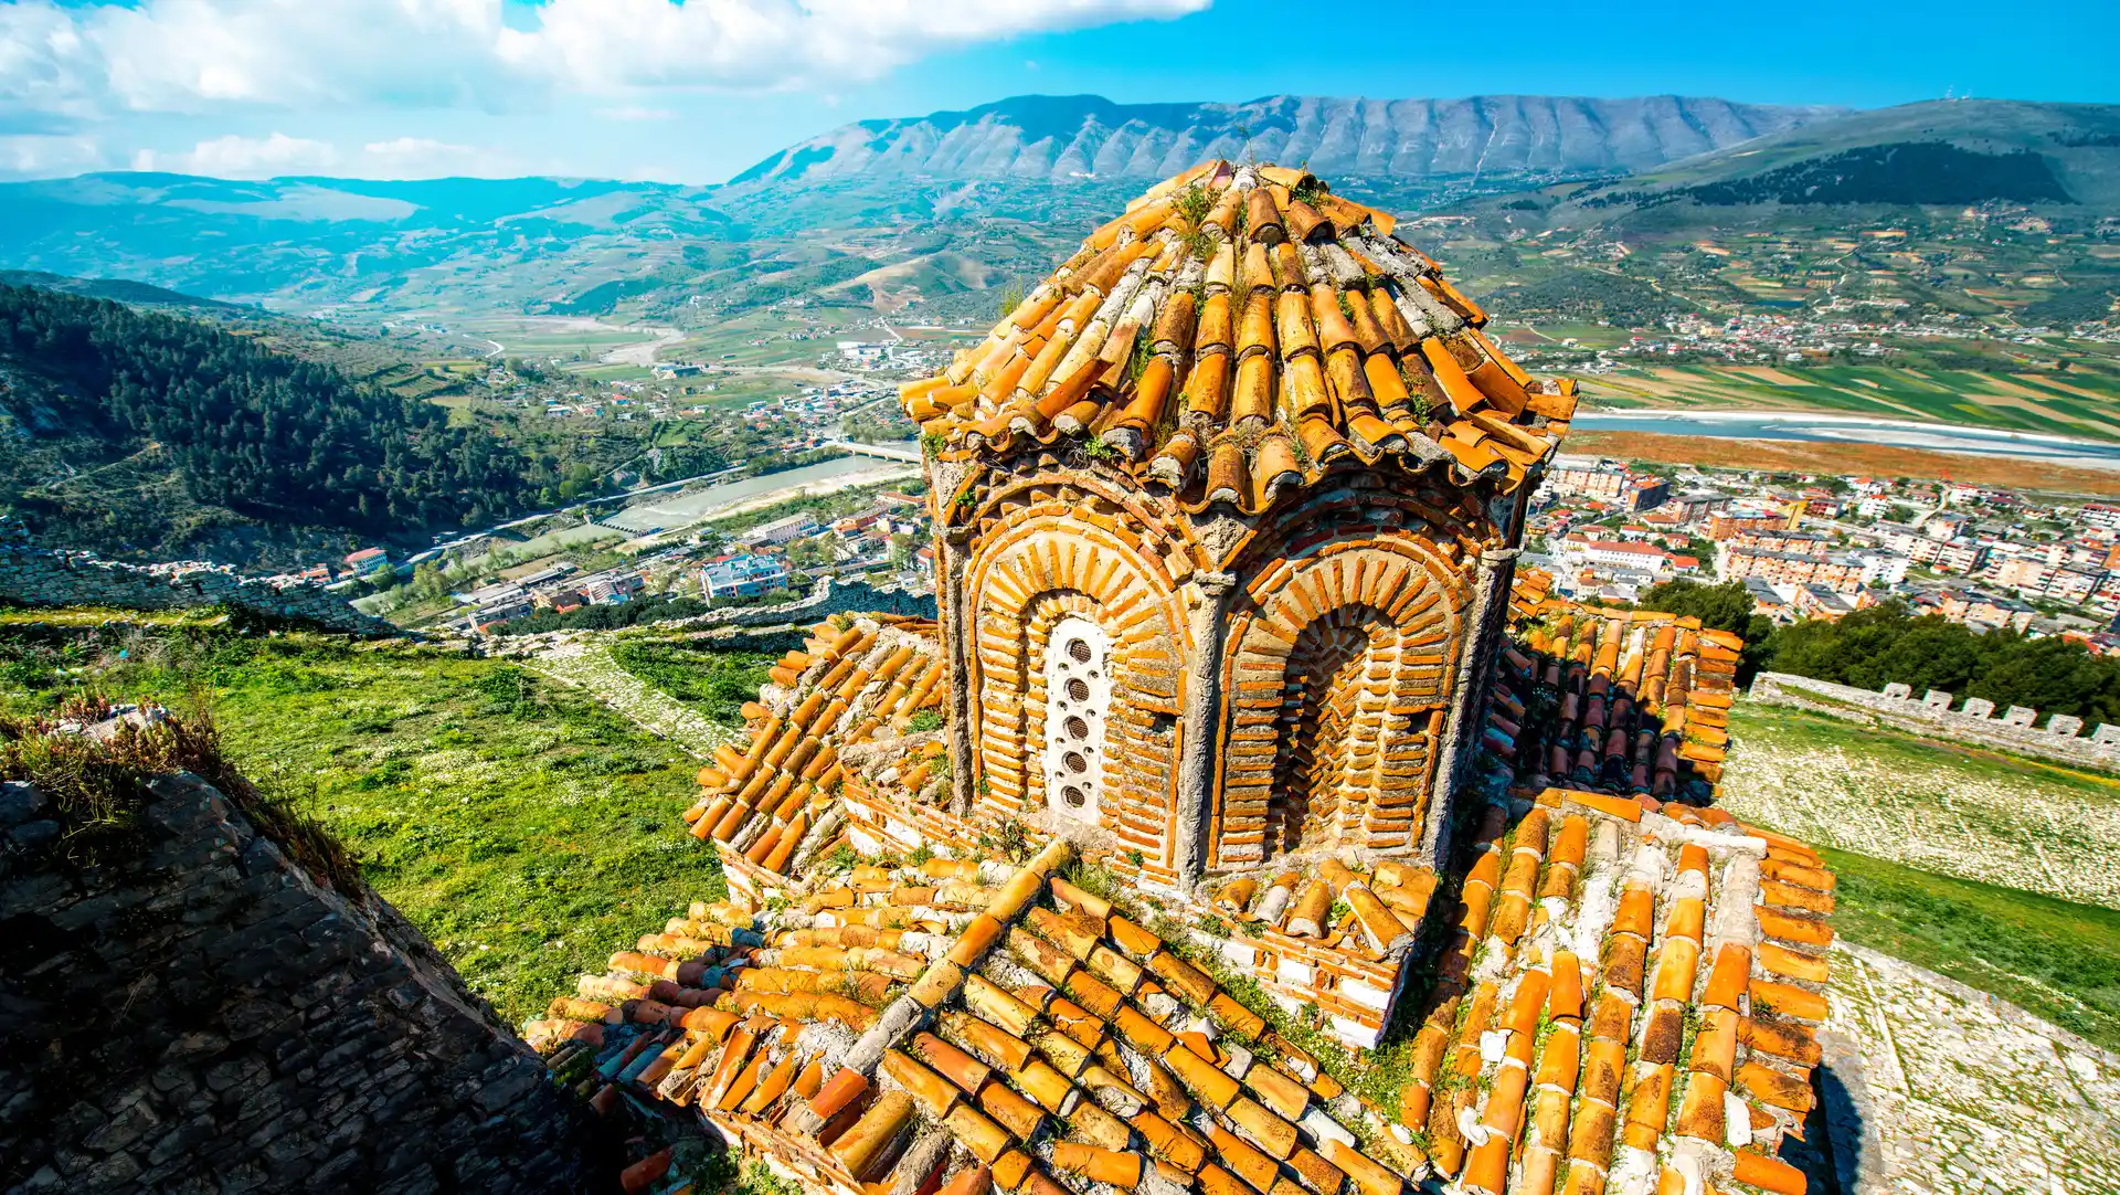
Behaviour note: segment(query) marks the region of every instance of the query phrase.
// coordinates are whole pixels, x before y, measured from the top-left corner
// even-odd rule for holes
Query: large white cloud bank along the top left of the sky
[[[553,93],[780,91],[1022,34],[1211,0],[0,0],[0,110],[76,119],[271,106],[479,106]]]

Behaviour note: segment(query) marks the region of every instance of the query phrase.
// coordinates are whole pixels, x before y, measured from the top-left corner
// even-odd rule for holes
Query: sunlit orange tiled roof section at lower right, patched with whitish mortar
[[[1808,848],[1603,792],[1490,807],[1399,1121],[1484,1195],[1802,1195],[1834,877]]]

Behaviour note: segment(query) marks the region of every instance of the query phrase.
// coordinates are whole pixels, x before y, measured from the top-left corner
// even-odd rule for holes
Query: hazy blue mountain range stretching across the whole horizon
[[[863,282],[873,278],[950,314],[990,307],[982,288],[1035,275],[1149,178],[1217,155],[1304,163],[1399,212],[1507,206],[1529,227],[1677,233],[1762,203],[1815,206],[1825,222],[1863,203],[1982,199],[2054,208],[2071,227],[2120,214],[2120,106],[1022,95],[846,125],[719,186],[174,174],[0,184],[0,267],[273,309],[651,320],[683,316],[693,297],[744,307],[818,286],[882,301]]]

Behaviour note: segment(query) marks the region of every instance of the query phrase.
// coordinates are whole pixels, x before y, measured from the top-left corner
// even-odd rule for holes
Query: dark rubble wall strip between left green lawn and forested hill
[[[273,585],[214,568],[151,572],[87,553],[0,540],[0,602],[21,606],[117,606],[121,610],[204,610],[233,606],[267,619],[314,623],[352,636],[403,636],[363,614],[322,585]]]

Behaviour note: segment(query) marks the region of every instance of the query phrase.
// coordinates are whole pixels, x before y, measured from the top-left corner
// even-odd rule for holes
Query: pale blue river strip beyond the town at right
[[[1579,411],[1571,430],[1654,432],[1719,441],[1863,443],[2120,470],[2120,441],[2048,436],[1959,424],[1916,424],[1910,420],[1870,420],[1861,415],[1810,415],[1802,411]]]

